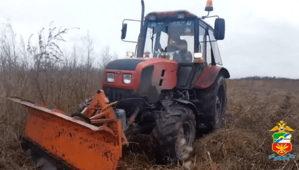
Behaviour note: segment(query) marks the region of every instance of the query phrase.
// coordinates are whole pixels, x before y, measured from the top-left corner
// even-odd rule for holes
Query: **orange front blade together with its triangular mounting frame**
[[[82,111],[89,123],[69,117],[61,110],[47,109],[16,97],[8,99],[29,108],[21,146],[27,156],[34,158],[36,166],[51,170],[117,168],[122,145],[127,141],[120,119],[116,118],[103,90]]]

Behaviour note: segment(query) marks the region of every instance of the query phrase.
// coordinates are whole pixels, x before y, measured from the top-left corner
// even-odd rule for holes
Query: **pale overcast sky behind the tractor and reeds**
[[[188,10],[205,16],[206,0],[144,0],[145,15],[152,11]],[[276,76],[299,78],[298,0],[213,0],[214,11],[225,19],[225,39],[218,41],[223,67],[231,78]],[[87,30],[94,50],[109,45],[120,58],[135,51],[134,43],[120,39],[123,19],[141,18],[140,0],[0,0],[0,22],[10,18],[17,35],[27,42],[30,34],[54,21],[70,30],[67,47],[80,44]],[[214,19],[206,20],[212,26]],[[126,39],[136,41],[139,22],[128,23]],[[135,34],[134,34],[135,33]]]

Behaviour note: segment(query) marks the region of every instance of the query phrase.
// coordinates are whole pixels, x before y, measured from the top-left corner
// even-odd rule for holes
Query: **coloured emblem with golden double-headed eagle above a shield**
[[[287,154],[288,152],[292,151],[292,143],[291,143],[291,137],[292,135],[289,132],[286,131],[294,131],[291,129],[289,126],[286,126],[286,122],[280,121],[277,123],[278,126],[275,126],[273,129],[270,131],[279,131],[275,132],[272,137],[273,137],[273,143],[272,143],[272,151],[276,152],[280,156],[276,154],[272,154],[269,156],[269,159],[274,157],[274,160],[290,160],[290,158],[296,158],[295,155],[288,154],[287,156],[283,156]]]

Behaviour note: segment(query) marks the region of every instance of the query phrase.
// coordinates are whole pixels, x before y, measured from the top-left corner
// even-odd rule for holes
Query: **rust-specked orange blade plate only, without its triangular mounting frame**
[[[25,136],[42,149],[81,170],[115,170],[121,157],[121,127],[94,126],[20,98],[8,98],[28,106]],[[120,125],[120,121],[115,123]],[[117,130],[119,132],[114,132]]]

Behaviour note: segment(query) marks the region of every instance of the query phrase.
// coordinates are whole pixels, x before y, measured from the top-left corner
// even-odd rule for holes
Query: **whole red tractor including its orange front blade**
[[[18,97],[29,108],[25,155],[48,169],[116,170],[124,144],[144,145],[156,163],[184,160],[204,133],[219,129],[226,117],[226,83],[218,40],[225,21],[197,17],[186,10],[152,12],[144,17],[134,52],[109,62],[103,89],[71,116]],[[203,19],[217,17],[214,28]],[[123,23],[121,39],[126,38]]]

